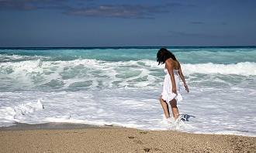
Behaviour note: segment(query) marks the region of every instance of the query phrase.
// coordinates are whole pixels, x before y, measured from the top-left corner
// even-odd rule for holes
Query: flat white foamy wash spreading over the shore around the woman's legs
[[[97,92],[2,92],[1,104],[5,98],[9,99],[9,102],[5,107],[1,107],[0,126],[8,126],[13,122],[69,122],[144,130],[256,136],[256,97],[249,96],[248,90],[195,87],[190,90],[189,94],[183,93],[184,101],[178,104],[180,113],[187,115],[186,121],[171,124],[164,123],[163,110],[157,100],[161,89],[141,90],[128,87]],[[238,90],[240,93],[237,93]],[[17,100],[17,97],[21,97],[22,101],[35,99],[35,95],[43,99],[44,109],[42,104],[20,104],[24,102]],[[11,106],[8,107],[9,105]],[[19,110],[15,110],[15,106]]]

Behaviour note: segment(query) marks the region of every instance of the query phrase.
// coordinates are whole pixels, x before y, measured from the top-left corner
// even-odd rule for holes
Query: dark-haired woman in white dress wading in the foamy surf
[[[168,49],[161,48],[157,53],[158,65],[165,63],[164,72],[166,73],[164,77],[164,87],[161,93],[160,102],[164,110],[164,115],[168,119],[170,117],[169,107],[167,102],[171,104],[172,115],[175,120],[178,118],[178,107],[177,101],[182,100],[182,95],[180,94],[180,83],[179,76],[184,83],[185,90],[189,93],[189,88],[185,83],[185,78],[182,74],[181,65],[175,58],[175,55],[168,51]]]

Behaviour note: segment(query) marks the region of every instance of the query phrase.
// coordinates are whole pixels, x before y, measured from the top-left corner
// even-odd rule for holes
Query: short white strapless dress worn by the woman
[[[177,89],[177,94],[172,93],[172,84],[171,84],[171,76],[168,73],[167,69],[164,69],[164,73],[166,73],[164,77],[164,86],[163,86],[163,92],[161,93],[162,99],[165,100],[166,102],[169,102],[175,98],[175,100],[181,101],[182,100],[182,95],[180,93],[180,81],[179,81],[179,76],[178,76],[178,70],[173,70],[174,76],[175,76],[175,83],[176,83],[176,89]]]

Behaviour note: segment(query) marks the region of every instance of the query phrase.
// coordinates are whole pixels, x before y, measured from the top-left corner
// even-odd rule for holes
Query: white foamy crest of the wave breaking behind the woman
[[[85,66],[94,69],[113,70],[116,67],[130,67],[130,68],[163,68],[157,66],[157,63],[152,60],[143,59],[138,61],[126,62],[106,62],[96,59],[74,59],[70,61],[41,61],[27,60],[21,62],[6,62],[0,63],[0,72],[5,73],[5,70],[12,70],[12,73],[26,72],[26,73],[43,73],[43,70],[63,70],[65,67]],[[122,69],[120,69],[122,70]],[[244,62],[235,64],[216,64],[216,63],[183,63],[182,70],[186,74],[192,73],[220,73],[220,74],[237,74],[242,76],[256,75],[256,63]],[[118,70],[117,70],[118,73]]]

